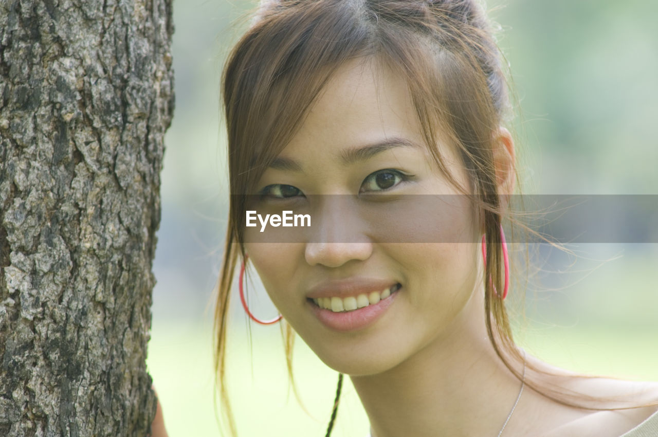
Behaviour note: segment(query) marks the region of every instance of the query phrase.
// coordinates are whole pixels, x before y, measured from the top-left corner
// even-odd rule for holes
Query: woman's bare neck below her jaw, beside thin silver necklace
[[[498,435],[520,382],[497,357],[484,317],[470,314],[481,313],[481,296],[474,293],[449,332],[412,357],[383,373],[351,376],[372,437]]]

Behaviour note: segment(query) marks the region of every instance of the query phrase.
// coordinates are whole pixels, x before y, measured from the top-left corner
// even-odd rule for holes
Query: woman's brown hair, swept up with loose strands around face
[[[215,371],[231,435],[236,430],[224,384],[226,329],[234,271],[244,259],[245,196],[253,193],[265,168],[293,138],[332,74],[347,61],[362,57],[391,68],[405,80],[436,165],[476,205],[486,233],[484,278],[490,280],[483,280],[488,337],[501,361],[522,378],[512,363],[523,362],[524,357],[513,341],[505,305],[495,293],[503,290],[501,220],[509,219],[510,226],[520,224],[504,213],[493,165],[493,133],[511,115],[510,93],[503,57],[482,7],[474,0],[268,1],[230,52],[222,76],[231,196],[216,296]],[[468,188],[459,186],[446,171],[436,147],[438,133],[457,146]],[[294,388],[294,332],[282,322]],[[527,365],[528,370],[549,374]],[[564,405],[582,407],[584,401],[595,400],[559,384],[542,384],[532,374],[524,380]],[[340,382],[327,435],[336,417]]]

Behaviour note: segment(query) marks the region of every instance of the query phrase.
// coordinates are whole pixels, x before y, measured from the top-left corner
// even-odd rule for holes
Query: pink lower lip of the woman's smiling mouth
[[[367,307],[341,313],[334,313],[330,309],[320,308],[315,303],[309,301],[307,301],[307,305],[311,306],[311,311],[328,328],[341,332],[353,331],[365,328],[379,319],[384,314],[384,311],[391,306],[400,290],[392,293],[386,299],[380,300],[378,303],[371,303]]]

